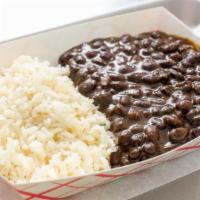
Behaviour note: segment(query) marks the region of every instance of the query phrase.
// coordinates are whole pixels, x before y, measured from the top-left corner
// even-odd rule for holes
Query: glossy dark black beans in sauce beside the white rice
[[[200,135],[200,49],[191,41],[159,31],[94,39],[63,53],[59,63],[110,120],[118,139],[112,167]]]

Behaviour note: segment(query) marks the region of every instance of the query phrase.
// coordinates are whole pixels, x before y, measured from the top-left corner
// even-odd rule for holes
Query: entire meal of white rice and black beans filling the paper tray
[[[11,182],[108,170],[200,135],[200,49],[190,40],[95,39],[59,63],[21,56],[0,69],[0,173]]]

